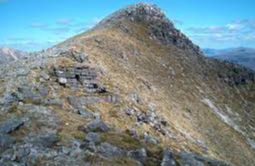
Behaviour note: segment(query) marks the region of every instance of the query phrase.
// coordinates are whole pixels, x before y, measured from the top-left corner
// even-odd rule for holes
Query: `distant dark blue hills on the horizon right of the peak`
[[[229,48],[229,49],[204,49],[204,53],[216,59],[237,63],[255,70],[255,49],[254,48]]]

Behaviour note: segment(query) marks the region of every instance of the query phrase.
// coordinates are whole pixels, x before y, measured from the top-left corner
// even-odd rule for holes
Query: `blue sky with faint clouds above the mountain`
[[[34,51],[91,28],[135,0],[0,0],[0,46]],[[254,0],[144,0],[202,48],[255,47]]]

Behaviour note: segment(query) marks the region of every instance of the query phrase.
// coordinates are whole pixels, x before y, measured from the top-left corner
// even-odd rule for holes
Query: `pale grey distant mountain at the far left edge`
[[[2,47],[0,48],[0,64],[10,61],[16,61],[21,57],[25,57],[28,54],[13,48]]]

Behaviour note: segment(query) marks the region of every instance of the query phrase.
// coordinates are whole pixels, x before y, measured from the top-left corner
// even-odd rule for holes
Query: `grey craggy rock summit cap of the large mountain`
[[[138,3],[127,6],[103,19],[96,28],[123,27],[126,21],[142,24],[147,29],[148,37],[160,44],[175,45],[180,49],[191,50],[196,55],[202,54],[200,48],[178,30],[157,5]],[[132,29],[132,25],[125,29]]]

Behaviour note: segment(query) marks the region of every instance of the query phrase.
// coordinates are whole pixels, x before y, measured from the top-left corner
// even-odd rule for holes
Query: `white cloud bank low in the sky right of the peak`
[[[222,42],[229,45],[247,45],[249,42],[255,43],[255,20],[237,20],[226,25],[191,27],[187,29],[187,34],[203,47],[205,43],[220,45]]]

